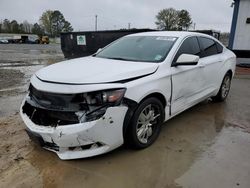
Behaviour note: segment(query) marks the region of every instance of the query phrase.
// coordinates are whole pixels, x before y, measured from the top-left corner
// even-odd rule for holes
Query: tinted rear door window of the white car
[[[199,37],[199,42],[203,50],[203,53],[201,54],[202,57],[218,54],[217,44],[214,40],[205,37]]]

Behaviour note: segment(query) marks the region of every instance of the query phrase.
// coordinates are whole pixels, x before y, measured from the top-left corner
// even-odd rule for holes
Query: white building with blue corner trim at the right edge
[[[228,47],[237,56],[250,57],[250,0],[234,0]]]

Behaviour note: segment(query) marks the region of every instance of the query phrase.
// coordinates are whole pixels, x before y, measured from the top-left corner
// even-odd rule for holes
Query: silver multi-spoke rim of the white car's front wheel
[[[159,110],[152,104],[146,106],[140,113],[136,125],[136,135],[138,140],[147,144],[156,130],[158,124]]]

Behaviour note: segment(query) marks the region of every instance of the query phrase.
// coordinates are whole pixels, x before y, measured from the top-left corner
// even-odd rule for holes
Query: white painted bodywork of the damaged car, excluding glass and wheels
[[[174,55],[188,36],[212,38],[210,36],[189,32],[148,32],[134,35],[174,36],[178,39],[169,55],[161,63],[85,57],[48,66],[37,72],[32,77],[31,83],[38,90],[63,94],[126,88],[125,97],[137,103],[152,93],[160,93],[167,101],[165,120],[168,120],[198,102],[216,95],[226,72],[232,70],[234,73],[235,71],[236,57],[225,47],[221,54],[200,58],[197,65],[171,67]],[[191,57],[186,56],[183,59],[190,60]],[[153,74],[126,83],[105,83],[149,73]],[[41,81],[37,77],[47,82]],[[173,91],[171,91],[171,77]],[[60,82],[60,84],[49,83],[50,81]],[[170,103],[171,94],[172,102]],[[169,115],[170,105],[171,116]],[[112,124],[100,118],[92,122],[57,127],[36,125],[23,114],[22,109],[20,111],[28,129],[40,134],[45,141],[51,142],[52,138],[60,147],[57,154],[61,159],[99,155],[123,144],[123,121],[127,112],[126,106],[107,109],[104,117],[105,119],[112,118],[114,121]],[[102,142],[104,146],[88,150],[68,150],[68,147],[95,142]]]

